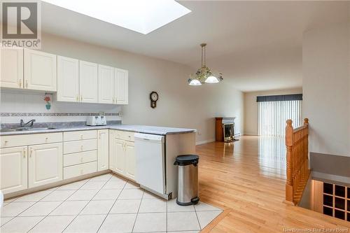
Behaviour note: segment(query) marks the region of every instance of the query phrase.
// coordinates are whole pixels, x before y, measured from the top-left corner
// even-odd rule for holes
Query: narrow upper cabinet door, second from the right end
[[[99,103],[114,103],[114,68],[99,64]]]

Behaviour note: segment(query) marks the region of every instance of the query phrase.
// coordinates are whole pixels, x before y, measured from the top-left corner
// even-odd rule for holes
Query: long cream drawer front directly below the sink
[[[1,148],[57,142],[62,142],[62,133],[0,136]]]

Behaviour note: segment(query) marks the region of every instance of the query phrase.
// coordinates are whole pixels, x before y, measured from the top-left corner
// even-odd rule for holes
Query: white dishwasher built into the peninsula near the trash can
[[[165,136],[135,133],[136,181],[165,196]]]

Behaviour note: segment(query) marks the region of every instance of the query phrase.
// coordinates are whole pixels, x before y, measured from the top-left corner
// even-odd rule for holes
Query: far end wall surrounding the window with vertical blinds
[[[301,94],[302,88],[244,92],[244,134],[258,135],[258,103],[256,97],[274,94]]]

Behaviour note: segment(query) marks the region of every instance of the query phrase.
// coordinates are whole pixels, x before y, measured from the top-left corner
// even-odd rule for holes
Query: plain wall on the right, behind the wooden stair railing
[[[350,156],[349,22],[304,33],[303,115],[310,151]]]

